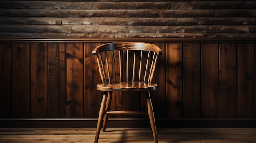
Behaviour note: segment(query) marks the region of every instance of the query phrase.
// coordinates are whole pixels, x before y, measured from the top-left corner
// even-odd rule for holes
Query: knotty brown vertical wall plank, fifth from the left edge
[[[66,43],[66,117],[83,118],[83,43]]]

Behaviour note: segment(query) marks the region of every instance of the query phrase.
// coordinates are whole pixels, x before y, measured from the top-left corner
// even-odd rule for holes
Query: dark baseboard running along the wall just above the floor
[[[96,128],[97,119],[0,119],[0,128]],[[253,118],[156,119],[157,128],[256,128]],[[148,119],[109,119],[107,128],[150,128]]]

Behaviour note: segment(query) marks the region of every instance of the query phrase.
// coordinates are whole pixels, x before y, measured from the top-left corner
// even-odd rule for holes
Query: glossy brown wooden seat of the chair
[[[100,91],[151,91],[156,90],[157,84],[144,82],[111,82],[108,84],[98,84]]]

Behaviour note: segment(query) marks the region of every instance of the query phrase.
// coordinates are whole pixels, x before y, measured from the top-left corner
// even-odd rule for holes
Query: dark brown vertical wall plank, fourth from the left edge
[[[65,43],[49,42],[48,117],[65,117]]]

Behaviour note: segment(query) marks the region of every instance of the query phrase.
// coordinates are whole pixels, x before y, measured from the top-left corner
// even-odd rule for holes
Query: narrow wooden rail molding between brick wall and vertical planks
[[[256,42],[256,38],[24,38],[0,37],[0,42]]]

